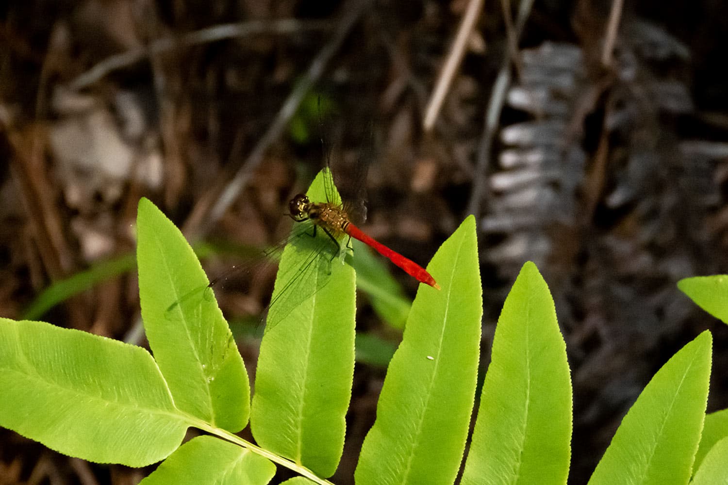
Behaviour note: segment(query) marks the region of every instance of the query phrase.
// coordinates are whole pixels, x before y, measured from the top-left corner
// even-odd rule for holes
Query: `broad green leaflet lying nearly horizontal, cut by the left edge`
[[[140,347],[0,318],[0,425],[84,460],[149,465],[188,423]]]

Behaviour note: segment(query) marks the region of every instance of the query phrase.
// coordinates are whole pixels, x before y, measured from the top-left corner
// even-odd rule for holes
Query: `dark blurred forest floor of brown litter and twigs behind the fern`
[[[146,196],[210,278],[248,268],[215,291],[252,372],[274,268],[246,261],[285,237],[325,159],[344,180],[365,166],[363,228],[423,266],[477,217],[483,371],[505,295],[537,263],[574,381],[569,483],[585,484],[652,374],[706,328],[708,409],[728,406],[727,329],[676,288],[727,271],[727,47],[728,6],[709,0],[2,2],[0,316],[145,345]],[[416,291],[386,261],[360,276],[337,484],[353,483]],[[150,470],[0,430],[0,484]]]

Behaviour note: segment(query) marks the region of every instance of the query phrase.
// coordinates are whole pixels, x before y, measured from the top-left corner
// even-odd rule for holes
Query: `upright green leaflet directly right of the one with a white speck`
[[[566,484],[570,443],[566,344],[548,286],[526,262],[496,326],[462,484]]]

